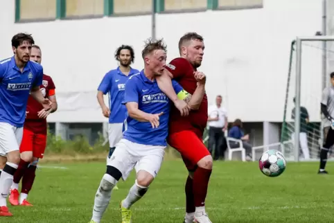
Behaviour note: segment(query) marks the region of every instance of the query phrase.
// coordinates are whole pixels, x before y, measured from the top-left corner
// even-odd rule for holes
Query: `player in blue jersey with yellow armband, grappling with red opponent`
[[[107,171],[103,175],[94,200],[91,223],[100,222],[117,181],[127,179],[136,166],[137,179],[130,188],[128,196],[121,202],[122,223],[131,222],[130,207],[148,190],[157,176],[164,158],[170,100],[159,89],[155,77],[164,72],[166,65],[166,46],[162,40],[146,43],[142,51],[144,69],[129,78],[125,85],[123,103],[128,109],[123,139],[116,145],[108,160]],[[197,79],[201,79],[197,77]],[[202,82],[200,82],[202,84]],[[199,84],[199,85],[200,85]],[[177,82],[173,87],[179,100],[189,105],[202,100],[203,87],[197,87],[193,96],[188,94]],[[115,222],[115,220],[112,220]]]

